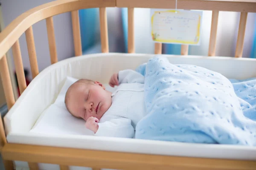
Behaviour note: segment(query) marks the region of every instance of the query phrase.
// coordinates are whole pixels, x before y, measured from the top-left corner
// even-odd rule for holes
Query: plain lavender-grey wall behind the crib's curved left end
[[[8,26],[12,20],[14,20],[23,12],[26,12],[27,10],[41,4],[49,3],[51,1],[53,0],[1,0],[0,2],[2,3],[3,20],[5,26]],[[73,32],[70,12],[54,16],[53,22],[55,28],[58,60],[73,57]],[[39,71],[42,71],[44,68],[50,65],[46,22],[45,20],[42,20],[38,23],[35,23],[32,27],[35,38],[38,68]],[[30,71],[25,34],[22,34],[19,41],[23,66],[24,68],[29,68]],[[10,52],[10,54],[12,54],[12,52]],[[29,76],[31,77],[31,74]]]

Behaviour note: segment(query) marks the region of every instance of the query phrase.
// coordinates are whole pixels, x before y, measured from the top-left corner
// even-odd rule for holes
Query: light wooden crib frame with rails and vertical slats
[[[134,53],[134,8],[175,8],[175,0],[56,0],[35,7],[21,14],[0,33],[0,73],[8,108],[15,104],[15,97],[6,60],[7,51],[12,48],[17,80],[22,93],[26,89],[19,37],[25,32],[32,77],[39,73],[32,25],[46,20],[51,63],[58,62],[52,16],[64,12],[72,14],[75,55],[82,55],[79,9],[99,8],[102,53],[108,53],[108,29],[106,7],[128,8],[128,53]],[[179,9],[212,11],[212,26],[209,41],[209,56],[215,56],[216,33],[219,11],[241,12],[235,57],[242,57],[245,25],[248,12],[256,12],[256,0],[178,0]],[[155,43],[155,54],[161,54],[162,44]],[[181,55],[188,54],[188,45],[182,45]],[[193,169],[233,170],[256,169],[256,161],[207,159],[195,157],[160,156],[137,153],[121,153],[100,150],[85,150],[64,147],[37,146],[7,143],[5,129],[0,119],[0,149],[6,170],[13,170],[12,160],[27,161],[31,170],[38,170],[37,162],[59,164],[61,170],[68,165],[112,169]]]

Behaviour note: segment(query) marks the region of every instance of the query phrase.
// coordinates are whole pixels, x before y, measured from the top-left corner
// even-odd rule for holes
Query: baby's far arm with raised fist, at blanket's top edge
[[[112,75],[109,85],[114,87],[115,85],[119,85],[121,83],[142,83],[144,84],[145,77],[134,70],[123,70],[119,71],[119,73],[115,73]]]

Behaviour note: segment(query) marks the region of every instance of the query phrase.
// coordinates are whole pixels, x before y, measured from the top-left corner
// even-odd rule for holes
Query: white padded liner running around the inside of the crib
[[[29,133],[41,113],[55,101],[67,76],[108,83],[113,73],[123,69],[135,69],[153,56],[153,54],[91,54],[50,65],[35,77],[5,116],[8,142],[132,153],[256,160],[256,147]],[[227,78],[256,77],[256,59],[165,56],[173,64],[202,66],[217,71]]]

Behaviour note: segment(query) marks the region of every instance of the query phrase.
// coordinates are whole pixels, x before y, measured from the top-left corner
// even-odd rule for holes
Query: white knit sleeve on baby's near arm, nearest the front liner
[[[99,123],[99,129],[94,134],[95,136],[109,136],[121,138],[133,138],[134,128],[131,125],[131,119],[115,118],[106,122]]]

